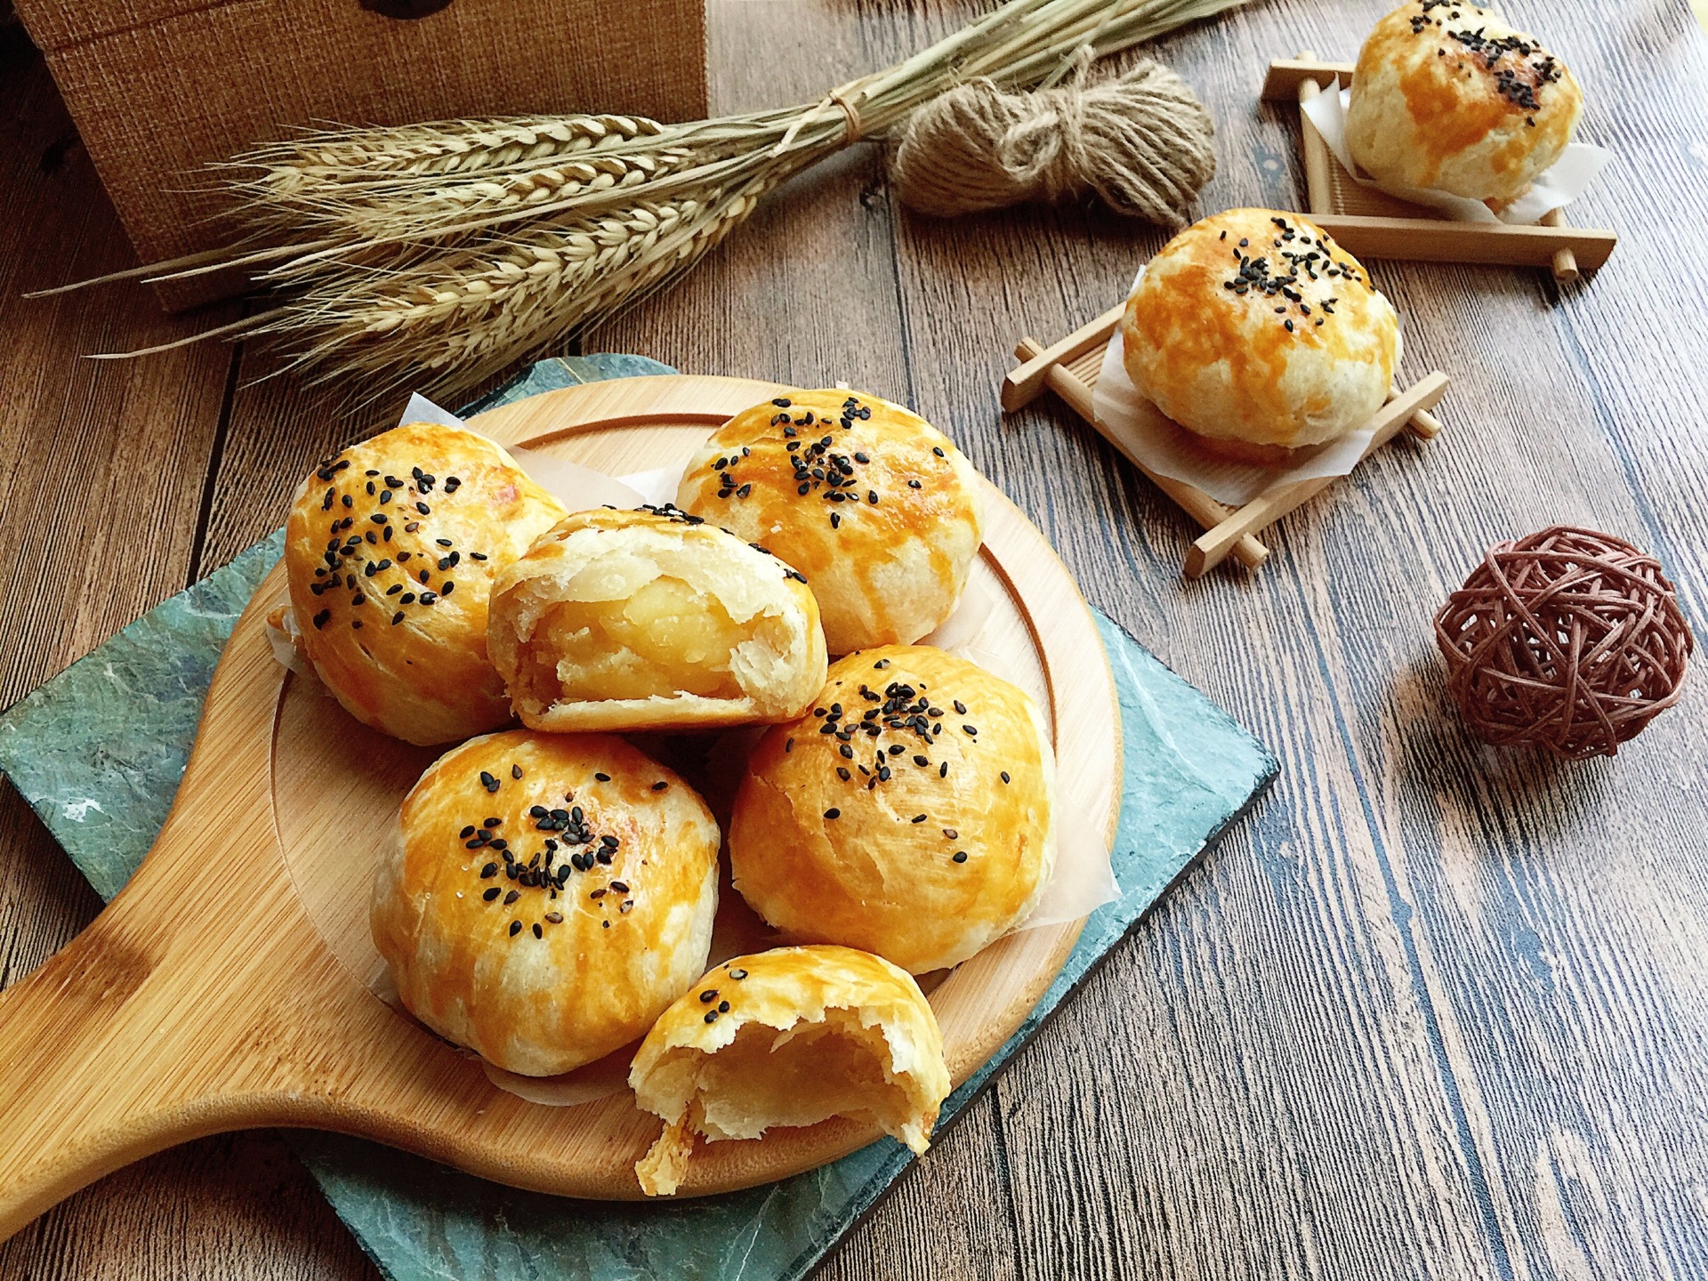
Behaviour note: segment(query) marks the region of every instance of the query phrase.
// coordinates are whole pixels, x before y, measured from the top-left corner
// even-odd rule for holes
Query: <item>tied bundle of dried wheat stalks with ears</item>
[[[579,114],[304,133],[222,167],[237,246],[102,280],[244,268],[275,306],[198,338],[270,340],[282,371],[357,376],[360,401],[403,386],[454,398],[663,287],[767,191],[938,94],[1037,85],[1085,51],[1238,3],[1009,0],[816,102],[687,125]]]

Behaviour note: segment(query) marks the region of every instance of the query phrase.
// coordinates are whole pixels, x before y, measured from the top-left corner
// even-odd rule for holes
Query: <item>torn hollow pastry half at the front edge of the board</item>
[[[757,1139],[770,1126],[842,1115],[921,1153],[950,1074],[912,975],[864,951],[813,946],[714,968],[652,1025],[629,1085],[664,1119],[635,1175],[647,1196],[670,1196],[695,1134]]]

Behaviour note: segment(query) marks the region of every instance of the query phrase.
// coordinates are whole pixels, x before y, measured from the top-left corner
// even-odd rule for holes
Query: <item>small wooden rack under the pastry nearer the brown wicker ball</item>
[[[1115,326],[1120,325],[1124,309],[1124,302],[1114,306],[1090,325],[1049,347],[1035,338],[1021,338],[1015,347],[1015,357],[1020,364],[1003,379],[1003,408],[1018,410],[1021,405],[1030,405],[1045,388],[1068,401],[1068,407],[1091,424],[1098,436],[1115,446],[1129,463],[1173,499],[1180,511],[1204,528],[1204,535],[1185,553],[1189,577],[1196,579],[1206,574],[1230,555],[1247,569],[1257,569],[1269,559],[1269,548],[1257,541],[1257,533],[1325,490],[1339,477],[1274,485],[1243,507],[1230,507],[1196,485],[1158,475],[1144,466],[1119,436],[1097,420],[1097,412],[1091,408],[1091,389],[1097,386],[1103,366],[1103,348],[1108,345],[1110,335],[1115,333]],[[1409,429],[1423,441],[1435,439],[1442,424],[1430,410],[1445,391],[1447,374],[1440,371],[1404,391],[1397,386],[1392,388],[1387,405],[1372,420],[1375,434],[1370,437],[1370,447],[1365,449],[1363,458],[1392,441],[1402,429]]]

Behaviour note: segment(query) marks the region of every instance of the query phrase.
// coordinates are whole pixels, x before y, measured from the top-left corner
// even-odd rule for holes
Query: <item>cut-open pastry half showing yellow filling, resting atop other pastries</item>
[[[673,613],[632,625],[649,671],[712,663],[726,688],[617,697],[594,664],[639,661],[617,639],[584,632],[576,654],[560,652],[553,611],[569,605],[617,608],[647,584],[685,584],[702,610],[714,601],[738,644],[707,652],[704,627]],[[623,606],[627,608],[627,606]],[[683,608],[695,611],[690,603]],[[704,620],[702,620],[704,622]],[[675,507],[584,511],[541,535],[494,586],[487,630],[511,704],[535,729],[652,729],[784,721],[798,716],[825,680],[825,635],[806,579],[763,548]],[[683,676],[683,671],[676,673]],[[565,697],[564,678],[579,695]],[[594,697],[588,697],[594,695]]]

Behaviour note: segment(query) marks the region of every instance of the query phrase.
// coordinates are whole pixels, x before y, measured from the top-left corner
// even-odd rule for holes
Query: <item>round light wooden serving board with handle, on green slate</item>
[[[623,475],[680,465],[729,415],[782,391],[627,377],[531,396],[471,425]],[[1112,839],[1119,716],[1097,627],[1042,535],[994,487],[984,497],[974,579],[994,606],[979,649],[1044,707],[1059,803]],[[374,864],[436,753],[357,724],[313,680],[285,673],[265,630],[284,598],[280,565],[225,646],[142,868],[70,946],[0,996],[0,1240],[126,1161],[246,1126],[343,1131],[564,1196],[640,1196],[634,1163],[659,1120],[635,1107],[623,1062],[584,1069],[560,1093],[588,1102],[528,1102],[376,994]],[[724,897],[721,931],[741,912]],[[931,989],[956,1085],[1020,1027],[1078,934],[1078,922],[1011,934]],[[700,1144],[683,1194],[781,1179],[874,1138],[837,1119]]]

